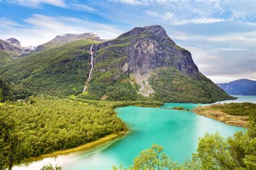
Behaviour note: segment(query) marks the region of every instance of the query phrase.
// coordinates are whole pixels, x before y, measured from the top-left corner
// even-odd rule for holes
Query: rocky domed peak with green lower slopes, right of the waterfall
[[[93,51],[95,68],[89,83],[93,95],[120,100],[105,89],[107,86],[168,102],[205,103],[232,98],[201,74],[191,53],[179,47],[159,25],[135,27],[93,46]],[[104,89],[96,91],[102,83]]]

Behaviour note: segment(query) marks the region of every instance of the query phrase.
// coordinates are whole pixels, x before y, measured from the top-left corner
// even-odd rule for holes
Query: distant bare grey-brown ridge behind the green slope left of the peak
[[[68,42],[72,42],[80,39],[93,39],[93,40],[101,41],[99,36],[94,33],[63,34],[62,36],[56,36],[55,38],[53,38],[49,42],[46,42],[45,44],[37,46],[35,51],[36,52],[43,51],[44,49],[47,49],[52,46],[66,44]]]

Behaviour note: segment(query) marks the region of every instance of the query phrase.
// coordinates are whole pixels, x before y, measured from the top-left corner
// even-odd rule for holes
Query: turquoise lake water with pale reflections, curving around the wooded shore
[[[255,96],[236,96],[229,102],[256,103]],[[217,103],[225,103],[217,102]],[[184,162],[196,152],[198,138],[206,132],[219,131],[223,136],[232,136],[234,132],[244,130],[227,125],[211,118],[193,114],[191,111],[167,108],[182,106],[192,109],[198,105],[191,103],[166,103],[161,108],[123,107],[117,108],[118,116],[129,126],[131,133],[119,140],[114,140],[90,152],[76,152],[33,161],[14,169],[40,169],[51,162],[64,169],[112,169],[113,165],[129,166],[140,151],[150,148],[153,143],[162,145],[172,160]]]

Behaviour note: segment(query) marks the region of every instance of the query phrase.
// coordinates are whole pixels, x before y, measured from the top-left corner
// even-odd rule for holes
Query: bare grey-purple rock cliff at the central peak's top
[[[128,56],[124,63],[128,66],[127,73],[138,72],[144,75],[158,67],[175,67],[186,75],[198,76],[198,68],[192,60],[191,53],[177,46],[159,25],[136,27],[115,40],[99,45],[97,50],[109,46],[111,48],[111,45],[119,44],[119,40],[122,39],[127,39],[122,44],[128,43],[122,48],[122,53]],[[114,49],[113,52],[119,51]],[[104,59],[105,55],[97,58]]]

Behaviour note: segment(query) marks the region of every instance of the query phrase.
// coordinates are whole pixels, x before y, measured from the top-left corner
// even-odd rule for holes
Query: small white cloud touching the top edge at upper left
[[[10,4],[18,4],[22,6],[28,6],[32,8],[38,8],[41,4],[50,4],[66,8],[67,5],[64,0],[8,0]]]

